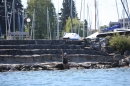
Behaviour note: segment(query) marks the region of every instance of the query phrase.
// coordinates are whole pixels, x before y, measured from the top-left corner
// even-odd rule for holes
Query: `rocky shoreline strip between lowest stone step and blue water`
[[[127,63],[118,62],[69,62],[69,69],[109,69],[109,68],[129,68]],[[62,62],[44,63],[1,63],[0,72],[15,71],[40,71],[40,70],[64,70]]]

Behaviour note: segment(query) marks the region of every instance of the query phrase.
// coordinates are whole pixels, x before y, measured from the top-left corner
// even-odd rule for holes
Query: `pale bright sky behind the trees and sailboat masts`
[[[94,0],[83,0],[81,16],[80,16],[81,0],[74,0],[74,1],[76,4],[76,10],[80,20],[83,21],[84,19],[86,19],[89,25],[91,25],[91,28],[93,29],[95,26]],[[118,19],[123,18],[123,15],[125,15],[126,17],[126,14],[124,14],[125,12],[123,12],[123,6],[121,4],[121,0],[117,0],[119,18],[115,0],[96,0],[96,1],[98,9],[97,28],[99,26],[109,25],[110,21],[117,22]],[[127,1],[130,8],[130,0]],[[62,0],[52,0],[52,2],[56,8],[56,12],[60,12],[60,9],[62,8]],[[27,0],[22,0],[22,3],[26,7]]]

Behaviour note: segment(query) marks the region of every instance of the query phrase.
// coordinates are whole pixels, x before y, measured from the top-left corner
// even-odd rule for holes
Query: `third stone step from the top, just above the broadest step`
[[[63,49],[67,54],[105,55],[103,52],[85,49]],[[0,55],[61,54],[60,49],[0,49]]]

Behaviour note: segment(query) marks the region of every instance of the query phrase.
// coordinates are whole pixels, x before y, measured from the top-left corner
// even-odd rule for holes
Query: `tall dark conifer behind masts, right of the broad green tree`
[[[72,14],[71,14],[71,0],[63,0],[63,8],[61,8],[61,20],[62,20],[62,30],[64,30],[65,25],[66,25],[66,20],[68,17],[71,18],[76,18],[77,17],[77,12],[76,12],[76,7],[75,7],[75,2],[72,0]],[[72,20],[71,20],[71,23]]]

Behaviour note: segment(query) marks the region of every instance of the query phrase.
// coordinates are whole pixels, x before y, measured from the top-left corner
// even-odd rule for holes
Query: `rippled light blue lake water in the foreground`
[[[130,68],[3,72],[0,86],[130,86]]]

